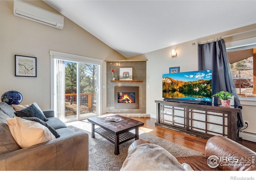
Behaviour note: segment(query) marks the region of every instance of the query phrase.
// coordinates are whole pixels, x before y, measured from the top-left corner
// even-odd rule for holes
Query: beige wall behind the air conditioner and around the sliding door
[[[58,13],[43,1],[27,1]],[[106,84],[105,59],[125,59],[112,48],[64,18],[62,30],[13,15],[13,1],[0,1],[0,95],[17,90],[23,95],[21,104],[37,102],[50,108],[50,55],[58,51],[103,60],[102,84]],[[14,55],[37,58],[37,77],[16,77]],[[102,89],[102,112],[106,112],[106,88]]]

